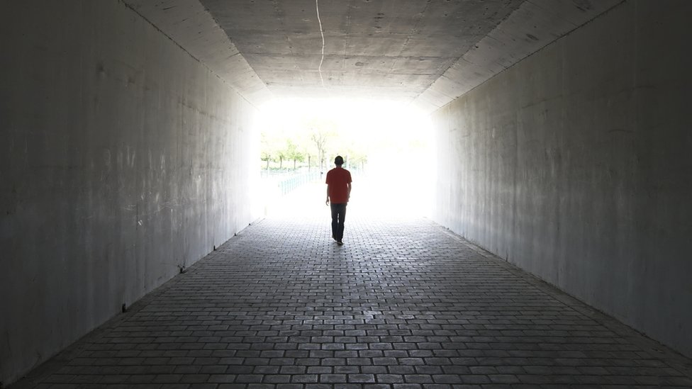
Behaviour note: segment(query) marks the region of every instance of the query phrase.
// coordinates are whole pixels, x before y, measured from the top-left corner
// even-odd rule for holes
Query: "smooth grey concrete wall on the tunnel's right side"
[[[437,222],[687,356],[691,14],[625,1],[433,115]]]

